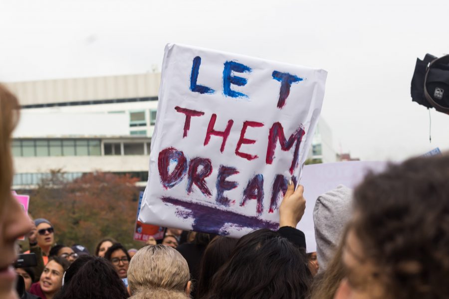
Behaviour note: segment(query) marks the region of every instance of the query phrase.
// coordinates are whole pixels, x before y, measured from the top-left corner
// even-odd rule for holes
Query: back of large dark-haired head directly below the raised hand
[[[214,276],[208,299],[303,299],[311,274],[303,252],[277,232],[243,236]]]

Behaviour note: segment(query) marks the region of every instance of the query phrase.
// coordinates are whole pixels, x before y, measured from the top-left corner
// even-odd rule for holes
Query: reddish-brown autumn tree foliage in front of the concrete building
[[[128,175],[94,172],[70,182],[55,170],[30,194],[29,211],[53,224],[57,243],[80,244],[91,254],[103,237],[115,238],[125,247],[141,247],[133,241],[136,181]]]

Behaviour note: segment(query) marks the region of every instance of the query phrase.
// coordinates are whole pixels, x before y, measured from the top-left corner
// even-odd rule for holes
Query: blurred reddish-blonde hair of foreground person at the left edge
[[[11,134],[19,118],[17,98],[0,84],[0,212],[4,200],[11,198],[13,165],[11,156]]]

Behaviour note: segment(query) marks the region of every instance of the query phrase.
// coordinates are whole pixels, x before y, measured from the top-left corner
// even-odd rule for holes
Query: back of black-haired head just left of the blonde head
[[[89,257],[55,297],[55,299],[79,298],[125,299],[128,298],[128,292],[109,261]]]

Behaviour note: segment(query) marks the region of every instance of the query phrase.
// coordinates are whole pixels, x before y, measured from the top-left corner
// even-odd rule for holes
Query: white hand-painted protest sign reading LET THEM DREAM
[[[277,229],[327,72],[168,44],[139,220],[241,236]]]

